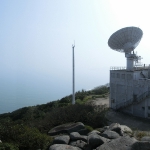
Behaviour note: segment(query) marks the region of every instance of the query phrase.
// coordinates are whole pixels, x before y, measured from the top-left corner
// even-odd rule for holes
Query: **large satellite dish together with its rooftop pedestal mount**
[[[125,53],[127,70],[129,71],[133,71],[134,62],[138,62],[141,58],[134,52],[131,54],[131,51],[137,47],[142,36],[143,31],[140,28],[126,27],[113,33],[108,40],[108,45],[111,49]]]

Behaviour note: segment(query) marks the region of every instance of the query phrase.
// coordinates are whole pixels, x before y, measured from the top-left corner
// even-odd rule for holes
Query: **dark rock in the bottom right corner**
[[[150,142],[137,141],[132,145],[131,150],[150,150]]]

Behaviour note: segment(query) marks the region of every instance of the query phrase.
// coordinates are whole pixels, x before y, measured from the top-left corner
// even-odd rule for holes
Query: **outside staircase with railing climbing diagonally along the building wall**
[[[150,96],[150,91],[146,91],[145,93],[138,96],[136,99],[131,98],[128,101],[121,102],[121,103],[117,104],[116,110],[127,107],[127,106],[132,105],[132,104],[139,103],[149,96]]]

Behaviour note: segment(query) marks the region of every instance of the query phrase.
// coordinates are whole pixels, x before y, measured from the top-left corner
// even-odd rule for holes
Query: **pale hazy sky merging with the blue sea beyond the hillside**
[[[109,82],[110,66],[126,66],[108,47],[120,28],[136,26],[135,51],[150,63],[149,0],[1,0],[0,113],[72,93],[75,40],[76,91]]]

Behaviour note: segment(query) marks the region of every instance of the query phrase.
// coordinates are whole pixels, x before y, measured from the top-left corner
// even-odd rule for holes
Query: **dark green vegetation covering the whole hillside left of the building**
[[[86,104],[93,97],[105,97],[109,89],[96,87],[91,91],[76,92],[76,104],[71,105],[72,95],[47,104],[24,107],[0,115],[0,150],[46,150],[53,142],[48,131],[69,122],[83,122],[91,131],[107,124],[105,106]]]

